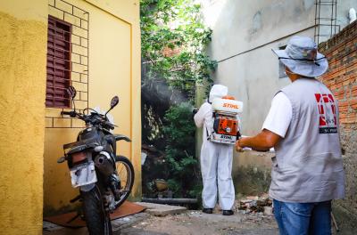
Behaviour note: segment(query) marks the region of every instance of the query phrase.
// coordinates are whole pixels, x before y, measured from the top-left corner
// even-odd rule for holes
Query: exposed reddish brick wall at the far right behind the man
[[[328,58],[328,73],[320,80],[339,102],[346,197],[336,200],[334,214],[342,234],[357,234],[357,21],[320,44]],[[352,232],[352,233],[351,233]]]

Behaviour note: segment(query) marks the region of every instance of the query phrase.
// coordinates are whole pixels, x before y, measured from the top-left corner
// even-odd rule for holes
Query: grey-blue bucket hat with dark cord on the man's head
[[[328,70],[328,60],[308,36],[293,36],[285,50],[272,51],[287,68],[303,77],[319,77]]]

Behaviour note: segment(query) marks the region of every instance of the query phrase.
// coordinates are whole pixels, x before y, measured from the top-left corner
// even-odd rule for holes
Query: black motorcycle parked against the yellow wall
[[[112,134],[115,125],[107,117],[119,103],[119,98],[112,98],[111,108],[103,115],[90,108],[77,111],[76,90],[70,86],[67,92],[74,109],[61,114],[79,118],[86,124],[86,128],[79,132],[77,142],[63,145],[64,157],[57,160],[57,163],[67,161],[72,187],[79,188],[79,196],[71,199],[71,203],[81,201],[81,212],[71,221],[81,216],[87,223],[89,234],[111,235],[110,214],[128,199],[135,177],[129,159],[116,155],[116,142],[131,141],[125,135]]]

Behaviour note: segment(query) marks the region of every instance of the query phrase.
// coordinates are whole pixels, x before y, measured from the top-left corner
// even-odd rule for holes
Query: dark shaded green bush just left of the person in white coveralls
[[[163,133],[167,136],[168,182],[177,197],[196,197],[194,189],[201,183],[192,118],[192,108],[188,103],[171,107],[164,118],[167,123]]]

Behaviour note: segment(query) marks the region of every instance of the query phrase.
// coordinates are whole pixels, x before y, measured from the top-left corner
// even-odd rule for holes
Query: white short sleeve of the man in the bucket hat
[[[277,93],[271,101],[269,114],[265,118],[262,129],[267,129],[284,138],[292,117],[293,107],[291,106],[291,101],[286,97],[285,93]]]

